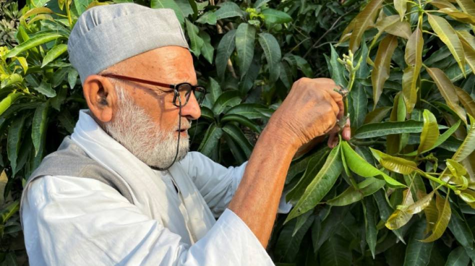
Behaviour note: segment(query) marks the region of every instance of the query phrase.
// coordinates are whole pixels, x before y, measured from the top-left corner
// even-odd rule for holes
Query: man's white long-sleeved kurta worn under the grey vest
[[[82,119],[82,126],[86,123],[87,127],[97,130],[98,126],[91,124],[93,120],[84,115],[81,113],[78,124]],[[76,126],[75,133],[78,130],[82,129]],[[119,149],[123,155],[124,148],[113,139],[103,141],[101,139],[104,147]],[[124,158],[124,161],[136,160],[132,157]],[[167,221],[166,217],[151,217],[146,201],[141,203],[145,206],[130,204],[115,189],[100,181],[43,176],[25,187],[22,200],[22,226],[30,265],[273,265],[247,226],[232,211],[225,209],[245,165],[224,168],[196,152],[188,153],[180,164],[186,167],[184,170],[213,215],[224,211],[196,242],[189,232],[172,232],[174,223],[188,225],[188,220],[196,219],[196,216],[188,215],[190,211],[186,210],[183,197],[173,186],[175,181],[166,171],[152,171],[152,179],[159,183],[157,187],[166,186],[166,204],[182,214],[181,220],[176,221],[174,217],[167,222],[169,228],[162,222]],[[134,193],[138,198],[152,198],[154,186],[150,187]],[[162,193],[160,190],[155,192]],[[189,208],[190,203],[187,204]],[[288,211],[289,206],[281,204],[281,207]]]

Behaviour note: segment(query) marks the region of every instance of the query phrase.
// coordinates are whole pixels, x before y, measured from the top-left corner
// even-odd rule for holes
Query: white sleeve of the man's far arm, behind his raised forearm
[[[226,168],[199,152],[189,152],[183,161],[183,166],[188,167],[188,175],[212,214],[219,217],[234,196],[247,162],[238,167]],[[292,208],[291,204],[285,202],[285,195],[283,193],[280,197],[278,213],[288,213]]]

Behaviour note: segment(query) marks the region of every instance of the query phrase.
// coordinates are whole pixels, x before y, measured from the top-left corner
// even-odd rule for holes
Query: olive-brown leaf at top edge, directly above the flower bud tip
[[[381,8],[382,2],[383,0],[370,0],[366,7],[351,21],[353,31],[349,37],[349,49],[353,53],[358,49],[364,31],[374,23],[374,18],[379,8]]]

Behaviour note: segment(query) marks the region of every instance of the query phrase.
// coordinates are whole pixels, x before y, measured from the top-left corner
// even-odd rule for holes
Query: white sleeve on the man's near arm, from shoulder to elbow
[[[44,176],[26,192],[22,225],[30,265],[273,265],[230,210],[188,246],[99,181]]]

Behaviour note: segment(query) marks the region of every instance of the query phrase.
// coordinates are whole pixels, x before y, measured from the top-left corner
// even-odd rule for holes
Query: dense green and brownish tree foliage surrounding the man
[[[289,169],[295,207],[278,217],[268,249],[277,265],[475,260],[472,0],[135,2],[175,11],[209,92],[191,148],[223,165],[247,160],[297,78],[331,76],[350,90],[352,139],[318,146]],[[5,263],[26,259],[25,180],[85,107],[66,51],[72,25],[110,3],[28,0],[14,43],[0,47]]]

